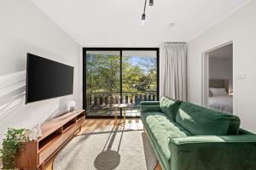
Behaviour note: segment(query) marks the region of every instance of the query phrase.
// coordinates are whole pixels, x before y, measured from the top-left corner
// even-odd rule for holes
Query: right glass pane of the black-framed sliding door
[[[140,116],[141,101],[157,100],[156,51],[123,51],[122,90],[126,116]]]

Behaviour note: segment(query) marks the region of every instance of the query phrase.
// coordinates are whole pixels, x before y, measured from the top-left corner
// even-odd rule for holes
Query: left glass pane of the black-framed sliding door
[[[86,51],[86,114],[113,116],[120,103],[119,51]]]

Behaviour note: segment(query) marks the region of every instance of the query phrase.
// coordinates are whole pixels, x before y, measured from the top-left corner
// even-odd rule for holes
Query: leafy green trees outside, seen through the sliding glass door
[[[122,59],[123,92],[143,94],[156,91],[156,59],[143,58],[136,65],[131,57]],[[86,92],[118,93],[120,91],[120,60],[116,55],[86,55]]]

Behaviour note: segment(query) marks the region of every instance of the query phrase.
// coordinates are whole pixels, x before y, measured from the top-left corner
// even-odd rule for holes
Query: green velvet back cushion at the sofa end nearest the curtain
[[[160,99],[160,109],[166,114],[166,116],[175,122],[178,105],[181,103],[182,101],[178,101],[169,97],[162,97]]]

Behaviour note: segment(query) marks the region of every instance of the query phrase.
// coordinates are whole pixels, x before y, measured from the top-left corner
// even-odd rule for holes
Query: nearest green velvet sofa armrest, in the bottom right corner
[[[256,135],[170,140],[172,170],[256,169]]]

